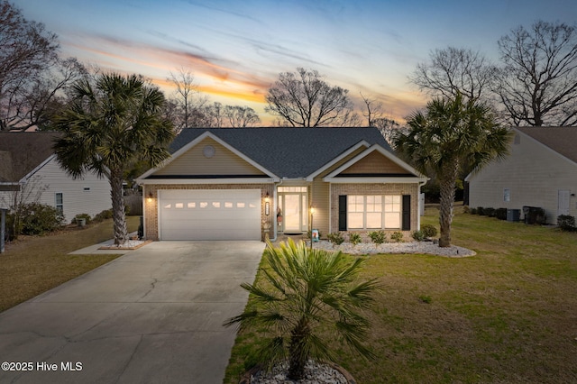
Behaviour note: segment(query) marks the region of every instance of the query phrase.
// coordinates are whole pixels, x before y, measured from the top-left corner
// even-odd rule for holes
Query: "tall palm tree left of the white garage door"
[[[114,244],[127,239],[124,172],[139,161],[155,166],[169,156],[172,123],[162,117],[165,99],[142,77],[105,74],[94,86],[87,79],[72,88],[72,100],[55,119],[63,136],[54,151],[68,173],[87,171],[108,178],[114,217]]]

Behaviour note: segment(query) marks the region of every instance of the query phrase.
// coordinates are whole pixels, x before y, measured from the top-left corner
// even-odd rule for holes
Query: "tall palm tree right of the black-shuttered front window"
[[[434,172],[441,188],[439,246],[451,246],[454,186],[463,168],[479,170],[508,154],[510,133],[501,127],[490,107],[463,96],[435,98],[425,112],[408,117],[409,130],[399,132],[394,146],[423,173]]]

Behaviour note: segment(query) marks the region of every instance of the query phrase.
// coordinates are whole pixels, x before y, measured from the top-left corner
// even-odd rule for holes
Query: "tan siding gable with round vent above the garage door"
[[[267,177],[247,160],[211,137],[205,137],[151,174],[151,178]]]

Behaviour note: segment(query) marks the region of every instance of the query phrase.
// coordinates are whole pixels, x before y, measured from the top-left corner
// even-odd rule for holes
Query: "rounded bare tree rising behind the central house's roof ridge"
[[[316,70],[298,68],[279,74],[265,96],[265,111],[291,126],[316,127],[342,124],[352,104],[347,89],[329,86]]]

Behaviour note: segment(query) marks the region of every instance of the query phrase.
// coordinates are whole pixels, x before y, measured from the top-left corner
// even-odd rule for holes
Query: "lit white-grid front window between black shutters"
[[[349,229],[400,228],[401,197],[350,195],[347,197]]]

